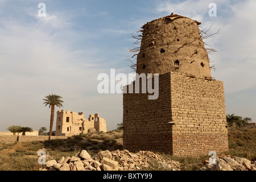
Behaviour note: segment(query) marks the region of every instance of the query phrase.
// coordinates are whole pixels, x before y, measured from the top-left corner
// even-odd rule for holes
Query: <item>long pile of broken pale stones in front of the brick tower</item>
[[[159,167],[170,170],[180,170],[179,162],[174,160],[164,160],[163,156],[150,151],[139,151],[137,153],[128,150],[108,150],[98,152],[91,157],[86,150],[78,152],[75,156],[56,160],[49,160],[47,168],[41,171],[138,171],[148,168],[149,163],[155,159],[159,162]]]

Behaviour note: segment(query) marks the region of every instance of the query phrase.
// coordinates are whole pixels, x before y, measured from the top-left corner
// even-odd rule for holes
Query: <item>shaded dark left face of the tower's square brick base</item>
[[[154,81],[152,81],[154,83]],[[148,94],[123,94],[123,148],[172,152],[170,73],[159,76],[158,100]],[[135,85],[134,85],[135,87]]]

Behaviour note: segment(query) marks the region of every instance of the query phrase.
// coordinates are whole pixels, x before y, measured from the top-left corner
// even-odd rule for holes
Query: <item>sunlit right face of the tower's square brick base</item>
[[[228,150],[224,84],[171,73],[172,148],[175,155]]]

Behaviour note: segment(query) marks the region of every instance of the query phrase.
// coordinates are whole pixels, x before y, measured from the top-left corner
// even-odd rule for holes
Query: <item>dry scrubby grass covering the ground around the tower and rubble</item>
[[[226,155],[240,156],[256,160],[256,127],[229,128],[229,151]],[[62,156],[73,156],[81,150],[87,150],[92,156],[101,150],[122,150],[122,130],[107,133],[75,135],[67,139],[52,139],[35,142],[0,143],[0,170],[31,171],[38,170],[38,151],[46,151],[46,160],[59,160]],[[158,153],[159,154],[159,153]],[[202,168],[203,161],[209,156],[177,157],[160,154],[164,158],[179,161],[181,170],[195,171]],[[218,154],[221,155],[221,154]],[[152,161],[151,170],[155,163]],[[155,168],[158,169],[159,168]]]

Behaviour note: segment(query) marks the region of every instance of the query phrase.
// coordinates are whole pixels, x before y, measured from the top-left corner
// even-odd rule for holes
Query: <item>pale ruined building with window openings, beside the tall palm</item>
[[[89,129],[106,132],[106,120],[99,117],[98,114],[89,115],[88,119],[84,118],[84,113],[77,114],[70,110],[57,111],[56,136],[72,136],[80,133],[88,133]]]

